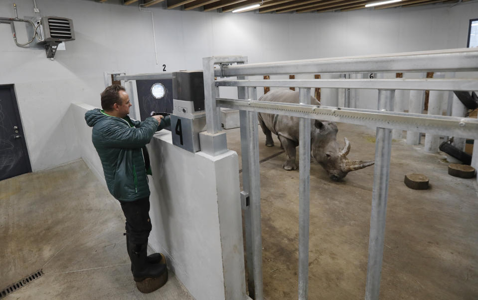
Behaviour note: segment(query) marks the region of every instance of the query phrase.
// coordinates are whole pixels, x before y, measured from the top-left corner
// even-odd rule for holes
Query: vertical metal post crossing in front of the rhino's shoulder
[[[311,104],[311,89],[300,88],[301,104]],[[308,299],[311,179],[311,120],[299,121],[299,300]]]

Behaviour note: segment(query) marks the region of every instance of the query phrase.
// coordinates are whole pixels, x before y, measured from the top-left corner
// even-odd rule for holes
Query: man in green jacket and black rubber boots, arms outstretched
[[[147,256],[151,232],[151,175],[146,144],[154,133],[170,125],[169,117],[153,116],[140,122],[131,119],[130,98],[121,85],[110,85],[101,93],[101,107],[85,113],[93,127],[93,145],[100,156],[106,184],[121,203],[126,217],[126,244],[131,272],[138,290],[151,293],[167,281],[166,261],[162,254]]]

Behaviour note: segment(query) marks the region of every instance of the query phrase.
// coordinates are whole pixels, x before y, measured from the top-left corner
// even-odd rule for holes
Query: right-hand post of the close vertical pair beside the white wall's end
[[[255,87],[248,89],[249,99],[257,100]],[[252,225],[252,263],[254,269],[254,296],[255,300],[263,300],[262,282],[262,231],[261,231],[261,176],[259,170],[259,138],[257,112],[247,112],[248,141],[247,152],[249,157],[249,201],[251,205]]]

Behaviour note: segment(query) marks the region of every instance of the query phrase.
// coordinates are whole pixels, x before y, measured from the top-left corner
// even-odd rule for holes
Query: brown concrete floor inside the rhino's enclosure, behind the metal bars
[[[375,130],[338,124],[350,159],[373,160]],[[227,132],[240,154],[239,129]],[[265,147],[259,130],[263,279],[266,300],[298,299],[299,171],[285,171],[285,154]],[[443,153],[393,141],[380,299],[478,299],[478,197],[474,179],[448,175]],[[423,173],[431,188],[412,190],[407,173]],[[373,167],[331,181],[311,164],[309,299],[364,299]]]

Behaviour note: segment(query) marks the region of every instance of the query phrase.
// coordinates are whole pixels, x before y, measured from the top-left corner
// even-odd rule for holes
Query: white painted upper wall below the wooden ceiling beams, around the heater
[[[31,0],[2,0],[1,17],[13,16],[14,2],[20,17],[34,15]],[[42,15],[73,19],[76,40],[54,61],[43,49],[15,46],[9,25],[0,24],[0,84],[15,84],[33,171],[80,157],[68,107],[98,106],[104,71],[161,72],[162,64],[167,71],[200,69],[202,57],[211,55],[247,55],[253,63],[460,48],[466,47],[469,19],[478,15],[476,1],[320,14],[150,8],[156,64],[151,13],[120,2],[37,0]],[[20,41],[26,39],[24,24],[17,25],[17,33]],[[357,106],[375,108],[376,97],[371,98],[359,97]]]

